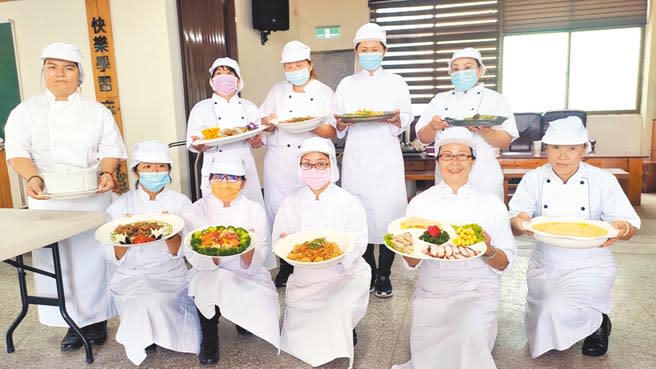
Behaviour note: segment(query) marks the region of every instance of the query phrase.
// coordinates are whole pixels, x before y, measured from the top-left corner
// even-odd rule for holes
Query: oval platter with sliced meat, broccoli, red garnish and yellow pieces
[[[387,232],[387,248],[415,259],[462,261],[480,257],[487,249],[483,229],[475,223],[404,217],[392,221]]]

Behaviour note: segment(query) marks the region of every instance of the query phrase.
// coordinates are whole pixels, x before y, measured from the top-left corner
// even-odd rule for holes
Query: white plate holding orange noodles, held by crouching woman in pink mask
[[[330,260],[319,262],[304,262],[287,258],[287,255],[289,255],[289,252],[292,251],[294,245],[303,243],[305,241],[312,241],[315,238],[325,238],[326,241],[335,242],[337,246],[342,250],[342,254]],[[354,247],[355,235],[352,233],[334,231],[302,231],[289,234],[286,237],[279,239],[278,242],[273,245],[273,252],[278,255],[279,258],[285,260],[296,268],[324,269],[340,262],[344,258],[344,255],[346,255]]]

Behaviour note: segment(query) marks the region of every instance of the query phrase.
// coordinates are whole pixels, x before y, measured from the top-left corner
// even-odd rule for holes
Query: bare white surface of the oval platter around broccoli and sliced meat
[[[411,218],[416,218],[416,217],[411,217]],[[443,258],[438,258],[438,257],[433,257],[431,255],[428,255],[425,253],[425,250],[430,247],[432,244],[423,240],[420,240],[419,237],[426,231],[426,229],[421,229],[421,228],[401,228],[401,222],[404,220],[408,219],[408,217],[402,217],[393,220],[388,226],[387,226],[387,232],[392,234],[392,235],[399,235],[405,232],[409,232],[412,235],[412,253],[404,253],[392,245],[388,244],[385,242],[385,246],[390,249],[392,252],[399,254],[401,256],[407,256],[415,259],[422,259],[422,260],[438,260],[438,261],[444,261],[444,262],[460,262],[460,261],[467,261],[467,260],[473,260],[478,257],[481,257],[483,253],[487,250],[487,245],[485,245],[485,242],[478,242],[473,245],[467,246],[473,250],[476,251],[476,256],[464,258],[464,259],[443,259]],[[452,223],[447,223],[447,222],[442,222],[442,221],[434,221],[435,225],[439,226],[440,229],[446,231],[449,234],[449,241],[444,243],[444,245],[451,245],[451,240],[456,238],[458,235],[456,234],[455,229],[453,229],[452,224],[456,225],[462,225],[462,224],[470,224],[473,223],[471,221],[454,221]],[[453,246],[452,246],[453,247]]]

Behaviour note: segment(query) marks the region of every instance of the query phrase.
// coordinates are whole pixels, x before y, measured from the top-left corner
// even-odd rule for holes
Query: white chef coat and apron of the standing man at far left
[[[125,146],[112,114],[95,100],[79,93],[68,101],[55,101],[47,91],[20,103],[9,114],[5,127],[7,160],[29,158],[39,171],[55,166],[94,168],[104,158],[125,159]],[[72,200],[28,199],[30,209],[105,211],[111,194]],[[107,289],[109,273],[94,231],[59,242],[66,309],[81,327],[116,315]],[[32,264],[53,271],[52,251],[32,251]],[[37,295],[55,297],[55,280],[35,274]],[[39,321],[68,327],[54,306],[39,305]]]

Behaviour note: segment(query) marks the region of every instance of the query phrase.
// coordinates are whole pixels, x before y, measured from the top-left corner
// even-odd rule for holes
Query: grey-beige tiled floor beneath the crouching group
[[[613,333],[608,354],[599,358],[582,356],[579,343],[567,351],[550,352],[536,360],[529,357],[523,313],[526,265],[532,244],[530,239],[522,238],[518,240],[519,257],[502,279],[499,335],[494,349],[494,357],[500,369],[656,368],[656,294],[652,292],[653,286],[656,286],[656,195],[643,195],[643,205],[638,211],[643,219],[641,231],[631,242],[613,247],[618,275],[613,292]],[[408,359],[414,277],[413,273],[404,271],[396,262],[392,276],[394,297],[387,300],[371,297],[367,316],[358,326],[355,368],[387,369],[392,364]],[[18,310],[16,273],[13,268],[1,263],[0,331],[4,333]],[[111,339],[94,349],[95,362],[86,365],[83,350],[73,353],[59,351],[59,341],[64,330],[41,326],[37,322],[36,308],[31,307],[23,324],[14,334],[16,352],[8,354],[3,347],[0,368],[133,368],[123,347],[113,339],[117,325],[118,319],[110,321]],[[221,321],[219,334],[221,360],[216,368],[309,368],[309,365],[285,353],[278,356],[272,346],[258,338],[238,336],[230,322]],[[340,359],[321,368],[347,366],[347,360]],[[194,355],[160,348],[141,367],[193,368],[198,367],[198,359]]]

